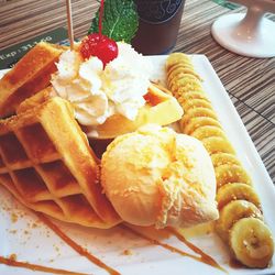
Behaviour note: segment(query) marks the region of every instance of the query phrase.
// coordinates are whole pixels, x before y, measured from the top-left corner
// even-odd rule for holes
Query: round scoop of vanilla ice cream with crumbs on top
[[[196,139],[146,125],[118,136],[101,162],[101,184],[122,220],[156,228],[218,219],[210,156]]]

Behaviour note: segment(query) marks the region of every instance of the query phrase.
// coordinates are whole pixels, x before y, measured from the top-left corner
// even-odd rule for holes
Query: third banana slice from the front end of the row
[[[218,208],[221,209],[232,200],[248,200],[262,211],[261,201],[254,189],[245,184],[234,183],[223,185],[216,196]]]

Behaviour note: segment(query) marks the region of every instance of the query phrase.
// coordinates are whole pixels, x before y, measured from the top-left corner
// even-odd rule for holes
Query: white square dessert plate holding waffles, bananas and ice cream
[[[154,65],[154,73],[151,79],[164,82],[166,56],[151,56],[147,58],[151,58]],[[273,212],[275,188],[273,183],[211,64],[204,55],[194,55],[191,58],[196,70],[204,78],[205,90],[219,116],[229,140],[253,179],[254,187],[262,201],[265,221],[275,237],[275,216]],[[3,75],[4,72],[0,72],[0,77],[1,74]],[[76,273],[108,274],[103,268],[98,267],[75,252],[47,228],[35,213],[16,202],[1,186],[0,220],[0,256],[15,257],[20,262]],[[125,228],[117,227],[110,230],[97,230],[58,221],[54,221],[54,223],[76,243],[121,274],[182,275],[186,271],[188,271],[188,274],[224,274],[224,272],[210,265],[173,253],[162,246],[153,245]],[[189,241],[213,257],[230,274],[275,273],[274,265],[266,270],[232,267],[228,248],[212,232],[211,224],[184,230],[184,233]],[[174,248],[194,254],[175,237],[157,234],[157,238],[162,243],[170,244]],[[274,260],[275,257],[273,262]],[[25,275],[34,273],[30,270],[0,264],[0,274]],[[36,271],[35,274],[46,273]]]

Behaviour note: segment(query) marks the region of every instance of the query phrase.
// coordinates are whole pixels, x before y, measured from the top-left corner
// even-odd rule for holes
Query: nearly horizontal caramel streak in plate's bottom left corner
[[[32,271],[54,273],[54,274],[63,274],[63,275],[88,275],[87,273],[69,272],[69,271],[65,271],[65,270],[47,267],[47,266],[37,265],[37,264],[30,264],[30,263],[25,263],[25,262],[18,262],[15,260],[12,260],[12,258],[9,258],[9,257],[3,257],[3,256],[0,256],[0,264],[6,264],[6,265],[9,265],[9,266],[15,266],[15,267],[22,267],[22,268],[28,268],[28,270],[32,270]]]

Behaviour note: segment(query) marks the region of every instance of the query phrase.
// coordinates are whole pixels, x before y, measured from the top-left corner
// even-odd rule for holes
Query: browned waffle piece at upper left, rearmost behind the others
[[[50,85],[63,47],[38,43],[0,79],[0,118],[13,114],[26,98]]]

